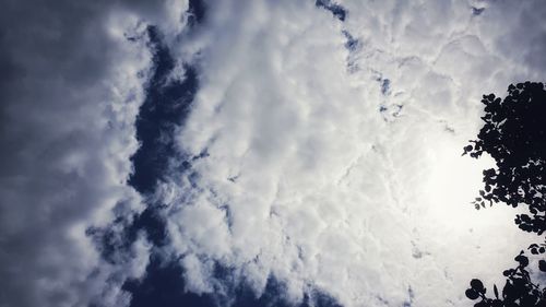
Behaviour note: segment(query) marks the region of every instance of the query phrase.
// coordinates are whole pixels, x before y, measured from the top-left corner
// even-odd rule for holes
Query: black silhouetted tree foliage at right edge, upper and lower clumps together
[[[478,158],[484,152],[496,162],[496,168],[485,169],[485,187],[473,202],[476,209],[503,202],[513,208],[526,205],[529,214],[518,214],[515,224],[537,235],[546,231],[546,91],[539,82],[508,86],[503,99],[495,94],[484,95],[484,127],[477,140],[470,141],[464,153]],[[533,244],[531,253],[546,251],[545,244]],[[529,258],[523,250],[514,260],[518,267],[503,272],[507,278],[502,294],[494,285],[495,297],[486,295],[482,281],[474,279],[466,290],[470,299],[482,298],[475,307],[546,306],[546,288],[532,282]],[[538,261],[546,271],[546,261]]]

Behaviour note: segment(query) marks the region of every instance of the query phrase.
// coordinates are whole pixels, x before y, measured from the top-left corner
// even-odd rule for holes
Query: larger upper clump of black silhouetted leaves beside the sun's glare
[[[488,153],[497,167],[484,170],[484,190],[476,209],[503,202],[513,208],[529,205],[515,223],[525,232],[546,231],[546,91],[543,83],[525,82],[508,86],[505,99],[484,95],[485,121],[478,140],[464,154],[479,157]]]

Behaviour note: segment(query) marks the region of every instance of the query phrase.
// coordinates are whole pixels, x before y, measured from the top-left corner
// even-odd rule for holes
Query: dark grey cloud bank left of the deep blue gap
[[[1,306],[128,304],[121,283],[144,273],[146,241],[136,240],[127,261],[112,264],[86,229],[110,222],[115,206],[124,214],[142,210],[126,181],[151,55],[144,38],[127,36],[141,35],[162,10],[106,1],[4,3]]]

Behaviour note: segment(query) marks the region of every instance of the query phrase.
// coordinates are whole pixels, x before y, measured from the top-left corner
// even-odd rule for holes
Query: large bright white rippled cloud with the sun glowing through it
[[[201,84],[180,151],[206,155],[165,186],[171,248],[194,292],[218,291],[219,263],[293,302],[460,306],[534,239],[513,211],[467,204],[491,162],[460,154],[482,94],[544,79],[544,48],[526,48],[544,31],[524,22],[544,8],[342,4],[345,22],[309,1],[218,1],[175,46]]]

